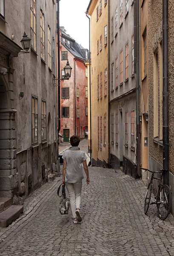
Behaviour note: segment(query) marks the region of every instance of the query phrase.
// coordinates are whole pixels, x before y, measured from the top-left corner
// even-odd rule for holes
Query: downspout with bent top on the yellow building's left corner
[[[90,18],[87,15],[86,11],[86,17],[89,19],[89,105],[90,105],[90,162],[88,163],[88,166],[91,166],[92,164],[92,125],[91,125],[91,22]]]

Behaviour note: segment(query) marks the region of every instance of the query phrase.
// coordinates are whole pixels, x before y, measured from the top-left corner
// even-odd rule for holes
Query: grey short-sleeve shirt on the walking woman
[[[62,158],[66,160],[65,182],[81,182],[84,178],[82,162],[87,159],[85,152],[81,150],[66,150],[63,152]]]

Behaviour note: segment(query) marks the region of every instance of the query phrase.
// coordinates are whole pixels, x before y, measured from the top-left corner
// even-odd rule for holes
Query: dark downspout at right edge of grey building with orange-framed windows
[[[140,28],[139,28],[139,1],[134,0],[134,73],[136,79],[136,123],[137,123],[137,175],[140,177]]]

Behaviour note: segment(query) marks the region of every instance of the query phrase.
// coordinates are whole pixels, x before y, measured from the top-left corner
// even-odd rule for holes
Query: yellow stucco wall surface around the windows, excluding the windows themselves
[[[104,71],[108,68],[108,44],[104,45],[104,26],[108,24],[108,4],[104,7],[102,1],[102,14],[97,21],[96,9],[100,0],[93,0],[88,11],[91,16],[91,102],[92,102],[92,158],[97,161],[108,163],[108,86],[107,96],[104,96]],[[102,50],[100,51],[100,35],[102,35]],[[99,54],[97,55],[97,40],[99,40]],[[102,72],[103,96],[97,100],[97,76]],[[100,95],[100,94],[99,94]],[[97,117],[106,116],[106,146],[102,149],[98,145],[98,123]],[[104,129],[102,127],[102,140]]]

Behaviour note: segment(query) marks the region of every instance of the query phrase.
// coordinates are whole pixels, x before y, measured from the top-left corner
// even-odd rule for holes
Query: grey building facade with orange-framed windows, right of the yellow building
[[[123,166],[123,172],[137,177],[134,2],[111,0],[110,4],[111,166]]]

